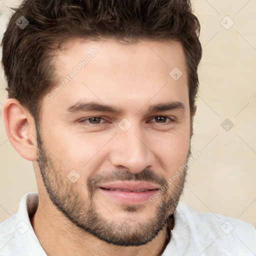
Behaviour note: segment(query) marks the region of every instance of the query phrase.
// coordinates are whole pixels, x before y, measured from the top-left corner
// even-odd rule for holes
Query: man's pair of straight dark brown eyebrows
[[[158,103],[149,106],[148,112],[163,112],[172,109],[184,110],[184,104],[180,101],[172,101],[167,103]],[[77,102],[67,108],[67,112],[76,113],[79,111],[100,111],[100,112],[111,112],[113,114],[120,114],[122,109],[115,105],[106,105],[97,102]]]

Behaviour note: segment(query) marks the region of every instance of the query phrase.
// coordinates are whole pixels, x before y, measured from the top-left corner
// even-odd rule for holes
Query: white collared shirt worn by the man
[[[46,256],[29,220],[37,198],[37,192],[26,193],[18,212],[0,223],[0,256]],[[198,213],[181,201],[174,219],[170,242],[162,256],[256,255],[256,230],[248,222]]]

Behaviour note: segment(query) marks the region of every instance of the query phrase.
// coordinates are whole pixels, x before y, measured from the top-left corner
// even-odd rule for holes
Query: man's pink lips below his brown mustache
[[[107,189],[124,189],[130,191],[116,191]],[[148,189],[148,191],[135,192],[137,190]],[[98,187],[100,193],[102,193],[107,198],[126,203],[126,204],[138,204],[145,201],[149,201],[149,197],[158,191],[158,186],[148,182],[116,182],[109,184],[101,184]]]

